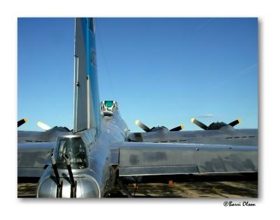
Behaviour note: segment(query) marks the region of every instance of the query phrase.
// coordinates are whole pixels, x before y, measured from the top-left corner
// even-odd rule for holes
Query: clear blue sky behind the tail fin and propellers
[[[73,128],[73,18],[19,18],[18,119]],[[257,18],[97,18],[100,100],[134,121],[258,128]],[[212,117],[202,117],[204,115]]]

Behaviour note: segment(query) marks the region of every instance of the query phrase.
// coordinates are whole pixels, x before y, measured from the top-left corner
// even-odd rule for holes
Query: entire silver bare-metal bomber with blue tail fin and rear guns
[[[125,190],[130,177],[258,172],[258,130],[232,123],[130,133],[118,103],[99,102],[94,26],[92,18],[75,20],[73,130],[48,141],[45,133],[18,134],[18,177],[40,177],[38,198],[106,197],[116,184]]]

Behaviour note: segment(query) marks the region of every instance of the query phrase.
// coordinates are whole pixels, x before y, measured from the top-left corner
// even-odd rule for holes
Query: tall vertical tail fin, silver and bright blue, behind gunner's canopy
[[[75,19],[74,127],[99,130],[100,108],[93,18]]]

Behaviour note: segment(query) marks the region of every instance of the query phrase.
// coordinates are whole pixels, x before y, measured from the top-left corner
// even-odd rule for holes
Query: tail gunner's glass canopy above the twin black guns
[[[65,153],[69,156],[72,169],[88,167],[87,150],[80,137],[60,139],[55,152],[57,167],[59,169],[66,169]]]

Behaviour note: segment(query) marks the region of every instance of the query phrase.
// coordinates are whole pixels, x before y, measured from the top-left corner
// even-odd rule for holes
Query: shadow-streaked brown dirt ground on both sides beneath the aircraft
[[[36,186],[18,183],[18,198],[36,197]],[[123,190],[118,190],[111,192],[110,197],[126,197]],[[258,180],[128,184],[128,191],[136,198],[258,198]]]

